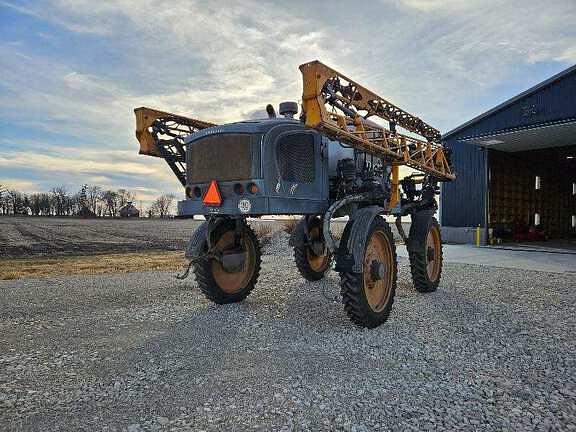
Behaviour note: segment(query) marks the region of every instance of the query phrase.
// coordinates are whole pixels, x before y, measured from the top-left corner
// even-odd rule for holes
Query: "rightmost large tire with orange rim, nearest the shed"
[[[414,287],[422,293],[436,291],[442,275],[442,237],[436,218],[413,215],[408,243]]]

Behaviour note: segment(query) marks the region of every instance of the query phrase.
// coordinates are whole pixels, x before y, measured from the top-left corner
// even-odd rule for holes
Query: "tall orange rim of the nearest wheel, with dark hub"
[[[383,278],[376,281],[372,274],[374,261],[384,266]],[[364,293],[374,312],[381,312],[388,304],[392,291],[393,265],[392,247],[386,234],[374,232],[364,253]]]

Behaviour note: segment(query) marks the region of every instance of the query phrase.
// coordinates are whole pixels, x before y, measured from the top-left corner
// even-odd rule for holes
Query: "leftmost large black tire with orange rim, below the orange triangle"
[[[212,243],[216,252],[226,252],[234,248],[234,221],[225,221],[212,233]],[[254,289],[260,274],[260,243],[247,224],[242,227],[241,250],[245,252],[242,266],[234,271],[226,270],[215,258],[202,257],[194,262],[196,282],[202,293],[214,303],[237,303],[244,300]],[[204,250],[208,250],[205,240]]]

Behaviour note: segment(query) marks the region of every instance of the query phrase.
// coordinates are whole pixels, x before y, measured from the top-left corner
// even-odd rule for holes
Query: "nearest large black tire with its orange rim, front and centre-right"
[[[342,245],[348,244],[350,231],[347,226]],[[375,217],[368,230],[363,272],[343,272],[340,277],[344,310],[354,324],[374,328],[388,319],[396,294],[397,260],[392,231],[382,217]]]

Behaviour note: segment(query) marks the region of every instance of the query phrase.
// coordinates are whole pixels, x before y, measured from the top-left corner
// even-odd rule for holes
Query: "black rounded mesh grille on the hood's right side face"
[[[276,147],[278,169],[282,180],[294,183],[313,183],[314,137],[293,134],[280,138]]]

